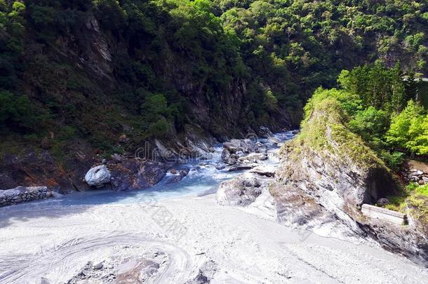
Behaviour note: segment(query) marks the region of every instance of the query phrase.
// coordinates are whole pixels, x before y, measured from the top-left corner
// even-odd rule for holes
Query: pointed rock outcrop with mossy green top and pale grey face
[[[347,129],[340,102],[329,92],[316,93],[308,103],[300,135],[281,149],[278,177],[359,217],[362,203],[375,203],[398,187],[382,160]]]

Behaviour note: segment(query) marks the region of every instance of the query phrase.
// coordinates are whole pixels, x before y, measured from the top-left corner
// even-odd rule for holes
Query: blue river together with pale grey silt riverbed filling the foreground
[[[262,163],[279,163],[278,149],[270,143]],[[269,196],[218,205],[218,184],[243,173],[216,169],[221,152],[175,165],[190,169],[181,182],[168,174],[140,191],[0,208],[0,283],[428,283],[425,269],[373,243],[279,224]]]

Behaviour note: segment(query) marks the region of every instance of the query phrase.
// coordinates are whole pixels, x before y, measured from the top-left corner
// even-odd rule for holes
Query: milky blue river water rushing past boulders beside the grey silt
[[[283,142],[292,139],[294,135],[293,131],[286,131],[283,133],[276,133],[274,134],[274,137]],[[279,146],[266,139],[260,139],[260,141],[267,144],[269,156],[269,159],[266,161],[260,161],[260,164],[279,163],[279,159],[276,156]],[[222,170],[215,168],[215,165],[223,164],[221,158],[222,150],[222,144],[215,144],[212,158],[208,160],[194,158],[187,161],[185,164],[174,165],[173,168],[177,170],[189,168],[189,174],[180,182],[168,183],[168,180],[173,175],[171,173],[167,173],[166,177],[164,177],[161,182],[148,189],[119,192],[109,190],[78,192],[68,194],[60,198],[22,203],[8,208],[0,208],[0,219],[6,219],[8,217],[13,218],[17,216],[25,218],[26,216],[24,216],[24,212],[28,211],[36,213],[44,210],[50,211],[55,210],[58,206],[90,206],[105,203],[140,203],[142,201],[146,201],[147,196],[150,196],[151,199],[156,199],[156,201],[161,201],[166,198],[214,193],[220,182],[229,180],[244,172],[244,170],[229,172],[227,168]],[[29,214],[27,217],[32,217],[32,215]]]

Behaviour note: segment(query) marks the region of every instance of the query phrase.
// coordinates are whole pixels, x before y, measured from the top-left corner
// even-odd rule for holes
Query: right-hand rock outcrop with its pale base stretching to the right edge
[[[345,128],[337,109],[334,100],[316,105],[302,133],[281,150],[283,162],[276,173],[281,186],[274,193],[280,207],[287,206],[290,192],[300,193],[307,200],[301,207],[307,215],[321,206],[314,217],[327,211],[354,234],[374,238],[384,248],[426,265],[428,242],[420,227],[413,222],[389,224],[361,213],[361,204],[392,195],[399,185],[373,151]]]

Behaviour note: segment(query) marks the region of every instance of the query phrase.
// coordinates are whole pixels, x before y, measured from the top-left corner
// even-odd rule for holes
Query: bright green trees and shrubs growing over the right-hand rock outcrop
[[[426,157],[428,115],[415,101],[420,83],[408,80],[399,65],[387,68],[377,63],[345,70],[338,83],[340,89],[315,91],[305,106],[302,133],[288,147],[296,153],[309,147],[327,157],[350,158],[359,167],[392,170],[408,156]],[[428,224],[422,214],[428,208],[426,185],[403,186],[388,198],[387,208],[409,206],[413,216]]]

